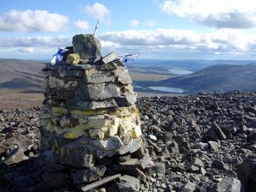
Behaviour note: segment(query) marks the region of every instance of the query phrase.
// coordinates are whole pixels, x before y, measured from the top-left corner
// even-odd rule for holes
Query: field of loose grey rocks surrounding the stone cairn
[[[256,93],[141,97],[138,107],[154,165],[139,186],[123,178],[127,191],[256,191]],[[0,191],[43,188],[37,157],[43,110],[0,111]]]

